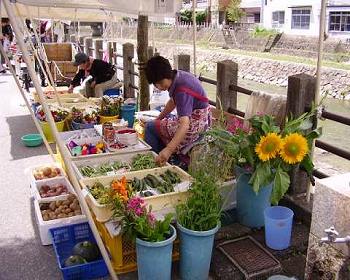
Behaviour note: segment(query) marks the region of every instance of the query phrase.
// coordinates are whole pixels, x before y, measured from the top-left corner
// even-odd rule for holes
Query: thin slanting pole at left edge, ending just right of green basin
[[[49,152],[52,160],[56,161],[54,153],[53,153],[53,151],[51,149],[51,146],[50,146],[49,142],[47,142],[47,139],[45,137],[43,129],[42,129],[41,125],[39,124],[38,119],[35,117],[34,111],[32,110],[32,108],[31,108],[31,106],[29,104],[29,101],[28,101],[28,99],[27,99],[27,97],[25,95],[25,92],[24,92],[23,88],[21,87],[21,85],[19,83],[18,77],[16,76],[16,73],[13,70],[11,62],[10,62],[8,56],[6,55],[4,47],[2,46],[2,44],[0,44],[0,52],[1,52],[1,55],[5,58],[6,64],[9,65],[9,70],[10,70],[13,78],[15,79],[16,85],[17,85],[17,87],[18,87],[18,89],[19,89],[19,91],[20,91],[20,93],[22,95],[22,98],[23,98],[24,102],[26,103],[26,106],[27,106],[27,108],[28,108],[28,110],[30,112],[30,115],[31,115],[31,117],[32,117],[32,119],[34,121],[34,124],[35,124],[37,130],[39,131],[39,134],[43,138],[43,141],[44,141],[44,144],[45,144],[45,147],[46,147],[47,151]]]

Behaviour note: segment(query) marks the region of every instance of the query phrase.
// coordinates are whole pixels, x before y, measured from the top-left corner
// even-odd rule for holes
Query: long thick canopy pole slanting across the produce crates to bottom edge
[[[23,59],[24,59],[25,63],[27,64],[29,75],[31,76],[31,78],[33,80],[34,86],[35,86],[35,88],[37,90],[37,93],[39,95],[39,99],[42,102],[42,106],[43,106],[44,112],[46,114],[46,117],[47,117],[47,120],[48,120],[48,124],[50,126],[50,129],[51,129],[53,135],[54,135],[54,138],[56,139],[56,142],[57,142],[57,145],[59,147],[59,150],[61,151],[62,159],[64,161],[64,164],[66,165],[67,173],[70,176],[71,183],[72,183],[72,185],[73,185],[73,187],[74,187],[74,189],[75,189],[75,191],[77,193],[80,206],[81,206],[83,212],[85,213],[85,215],[86,215],[86,217],[88,219],[88,222],[89,222],[89,225],[91,227],[91,230],[92,230],[92,232],[93,232],[93,234],[95,236],[97,245],[98,245],[98,247],[100,249],[100,252],[101,252],[101,254],[103,256],[103,259],[105,260],[105,262],[107,264],[107,267],[108,267],[109,273],[111,275],[111,278],[113,280],[118,280],[118,277],[117,277],[117,275],[116,275],[116,273],[115,273],[115,271],[113,269],[113,266],[111,264],[111,261],[109,259],[108,252],[106,251],[106,248],[103,245],[102,239],[101,239],[100,234],[98,233],[96,225],[95,225],[95,223],[93,221],[93,218],[92,218],[92,215],[90,213],[89,207],[87,206],[86,201],[84,199],[84,196],[83,196],[83,194],[81,192],[81,189],[80,189],[80,186],[79,186],[79,182],[78,182],[76,176],[74,175],[74,170],[73,170],[73,167],[72,167],[72,163],[71,163],[68,151],[65,149],[65,145],[64,145],[64,143],[62,142],[62,140],[59,137],[59,133],[58,133],[57,127],[55,125],[54,119],[53,119],[53,117],[51,115],[51,112],[50,112],[50,109],[49,109],[48,105],[46,104],[44,92],[43,92],[42,88],[40,87],[40,83],[39,83],[38,77],[36,76],[33,64],[32,64],[32,62],[31,62],[31,60],[29,58],[29,52],[28,52],[28,50],[26,48],[26,45],[25,45],[24,40],[23,40],[23,36],[22,36],[22,34],[20,32],[19,25],[18,25],[18,23],[16,21],[16,15],[15,15],[15,13],[13,11],[13,6],[11,5],[10,0],[4,0],[3,3],[4,3],[4,7],[6,9],[8,17],[11,20],[13,20],[12,21],[12,27],[13,27],[13,30],[14,30],[15,34],[18,34],[17,42],[18,42],[19,48],[22,50]]]

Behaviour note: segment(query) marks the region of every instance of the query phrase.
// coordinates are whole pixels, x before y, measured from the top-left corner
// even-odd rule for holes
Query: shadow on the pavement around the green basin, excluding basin
[[[39,147],[25,147],[21,142],[23,135],[38,133],[30,115],[7,117],[6,122],[10,129],[11,156],[13,160],[48,154],[44,144]]]

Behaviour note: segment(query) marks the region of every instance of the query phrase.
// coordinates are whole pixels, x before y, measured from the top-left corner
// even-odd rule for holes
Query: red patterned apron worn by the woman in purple
[[[191,90],[187,87],[176,88],[175,94],[188,94],[195,99],[198,99],[203,102],[208,102],[209,99],[200,95],[199,93]],[[195,109],[192,111],[190,118],[190,127],[186,133],[185,139],[177,147],[176,153],[181,152],[183,148],[189,144],[198,140],[200,134],[208,129],[211,125],[211,113],[210,106],[203,109]],[[167,145],[174,137],[178,127],[179,119],[178,117],[174,118],[164,118],[162,120],[156,120],[155,126],[158,132],[159,137],[165,145]]]

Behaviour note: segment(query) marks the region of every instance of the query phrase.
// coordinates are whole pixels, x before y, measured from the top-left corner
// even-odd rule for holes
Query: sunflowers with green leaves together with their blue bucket
[[[277,205],[290,185],[290,171],[303,168],[312,179],[310,156],[313,140],[321,130],[312,130],[316,110],[286,119],[280,128],[269,115],[254,116],[250,129],[230,133],[223,128],[208,132],[235,162],[237,214],[249,227],[264,226],[264,210]]]

